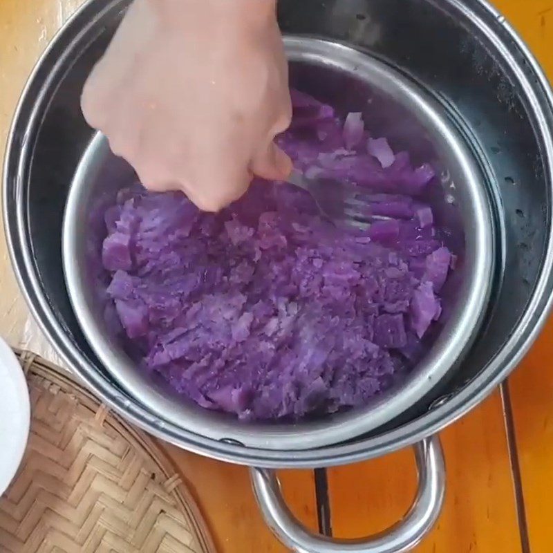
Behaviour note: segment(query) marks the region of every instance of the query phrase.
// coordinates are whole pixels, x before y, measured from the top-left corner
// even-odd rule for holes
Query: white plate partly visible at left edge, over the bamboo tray
[[[25,453],[30,427],[29,391],[17,357],[0,339],[0,495]]]

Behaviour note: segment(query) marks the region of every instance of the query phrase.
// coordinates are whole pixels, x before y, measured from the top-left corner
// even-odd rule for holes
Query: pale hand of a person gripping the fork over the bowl
[[[82,110],[153,191],[217,212],[254,176],[285,180],[290,124],[276,0],[135,0],[84,86]]]

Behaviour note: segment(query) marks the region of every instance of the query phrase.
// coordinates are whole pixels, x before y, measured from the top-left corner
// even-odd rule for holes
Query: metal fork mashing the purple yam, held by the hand
[[[348,182],[331,178],[307,178],[294,169],[288,178],[291,185],[307,191],[321,215],[335,224],[346,224],[359,229],[368,229],[375,221],[389,221],[390,217],[371,214],[371,194]]]

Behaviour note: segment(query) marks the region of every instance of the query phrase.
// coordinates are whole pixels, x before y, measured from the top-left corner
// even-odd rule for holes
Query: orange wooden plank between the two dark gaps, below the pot
[[[444,511],[419,553],[520,553],[516,503],[500,395],[442,433]],[[411,451],[328,473],[332,530],[359,537],[400,520],[415,496]]]

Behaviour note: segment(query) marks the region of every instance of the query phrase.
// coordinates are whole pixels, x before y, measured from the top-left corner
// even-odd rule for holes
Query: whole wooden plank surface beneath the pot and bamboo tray
[[[80,0],[0,0],[0,150],[21,87]],[[553,78],[553,0],[496,0]],[[28,342],[28,312],[0,247],[0,332]],[[442,435],[447,500],[419,553],[553,552],[553,321],[500,391]],[[167,447],[221,553],[283,552],[263,525],[247,471]],[[397,521],[415,491],[411,451],[328,471],[285,471],[285,494],[312,528],[362,536]],[[145,552],[147,553],[147,552]]]

